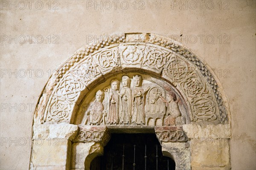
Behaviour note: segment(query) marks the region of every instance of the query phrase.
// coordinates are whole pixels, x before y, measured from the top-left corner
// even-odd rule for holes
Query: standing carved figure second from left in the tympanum
[[[119,123],[119,81],[113,79],[111,81],[111,93],[108,99],[109,102],[109,112],[107,123],[108,124],[118,124]]]

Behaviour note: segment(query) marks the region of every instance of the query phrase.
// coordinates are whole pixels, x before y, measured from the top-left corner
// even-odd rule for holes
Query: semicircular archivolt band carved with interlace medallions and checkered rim
[[[130,35],[107,37],[78,50],[66,61],[52,75],[40,99],[47,102],[43,108],[38,104],[41,111],[36,111],[36,115],[40,122],[72,123],[74,108],[95,82],[109,73],[137,68],[153,72],[176,86],[189,102],[191,122],[227,123],[218,85],[192,52],[156,35],[142,34],[145,38],[139,40],[129,38]]]

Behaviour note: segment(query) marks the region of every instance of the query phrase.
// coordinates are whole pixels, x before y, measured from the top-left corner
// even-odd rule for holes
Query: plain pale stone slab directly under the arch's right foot
[[[230,124],[184,124],[183,130],[189,138],[231,138]]]

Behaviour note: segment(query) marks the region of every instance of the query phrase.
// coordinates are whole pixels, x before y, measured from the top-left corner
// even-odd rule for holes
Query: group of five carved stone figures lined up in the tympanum
[[[96,92],[95,101],[86,112],[89,124],[99,125],[103,122],[108,125],[147,125],[145,122],[145,98],[151,87],[148,86],[145,90],[142,88],[142,77],[140,75],[133,76],[134,88],[132,90],[130,88],[131,81],[127,75],[122,76],[120,91],[120,83],[117,79],[113,79],[110,84],[111,89],[108,88],[105,107],[102,104],[104,92],[102,90]],[[159,87],[154,87],[151,91],[153,96],[147,106],[147,112],[160,115],[162,119],[165,116],[164,125],[175,126],[175,119],[181,116],[175,93],[169,92],[165,99]],[[158,104],[159,100],[163,105]]]

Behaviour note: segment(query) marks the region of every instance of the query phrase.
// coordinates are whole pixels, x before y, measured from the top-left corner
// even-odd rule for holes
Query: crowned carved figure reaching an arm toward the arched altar
[[[145,91],[143,90],[143,88],[141,87],[142,79],[140,75],[135,75],[133,77],[133,81],[135,88],[132,91],[133,107],[131,122],[134,125],[143,125],[145,124],[145,93],[150,89],[150,86],[148,86]]]

